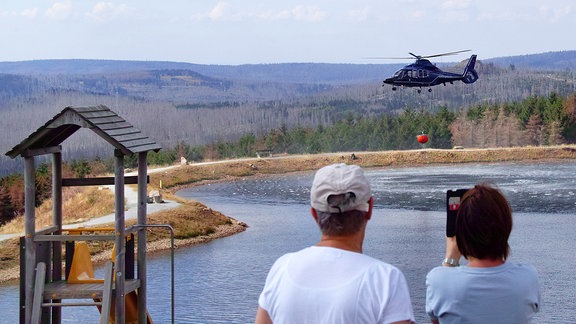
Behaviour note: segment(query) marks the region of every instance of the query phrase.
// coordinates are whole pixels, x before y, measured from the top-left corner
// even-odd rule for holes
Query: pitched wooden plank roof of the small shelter
[[[6,155],[15,158],[28,150],[60,145],[81,127],[93,130],[125,155],[155,151],[161,147],[130,125],[108,107],[66,107],[44,126],[38,128]]]

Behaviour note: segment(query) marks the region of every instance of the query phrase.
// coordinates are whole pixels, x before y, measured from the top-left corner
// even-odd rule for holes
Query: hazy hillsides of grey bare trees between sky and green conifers
[[[438,66],[461,73],[467,59]],[[382,86],[382,80],[403,65],[0,62],[0,129],[9,134],[0,137],[0,151],[9,151],[67,106],[106,105],[170,148],[226,143],[270,130],[318,129],[357,116],[459,112],[576,92],[576,51],[480,57],[478,81],[439,85],[430,92]],[[71,137],[63,147],[64,159],[110,154],[106,143],[94,141],[90,136]],[[0,156],[0,176],[21,166]]]

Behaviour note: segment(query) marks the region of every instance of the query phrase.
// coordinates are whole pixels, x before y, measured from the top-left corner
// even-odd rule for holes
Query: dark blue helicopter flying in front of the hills
[[[394,73],[394,76],[385,79],[382,86],[390,84],[392,85],[392,90],[394,91],[397,89],[397,87],[418,87],[418,93],[420,93],[422,91],[422,87],[430,87],[428,88],[428,92],[432,92],[432,86],[439,84],[446,85],[446,83],[454,84],[454,81],[462,81],[466,84],[474,83],[476,80],[478,80],[478,73],[476,70],[474,70],[474,65],[476,64],[476,54],[470,56],[470,59],[468,60],[468,63],[466,64],[462,74],[442,71],[436,67],[436,65],[427,60],[428,58],[432,57],[454,55],[462,52],[469,52],[469,50],[427,56],[408,53],[416,58],[416,62],[410,65],[406,65]]]

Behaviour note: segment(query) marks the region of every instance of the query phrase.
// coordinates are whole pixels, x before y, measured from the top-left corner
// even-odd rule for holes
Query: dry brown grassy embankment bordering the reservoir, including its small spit
[[[490,162],[529,162],[576,159],[576,147],[525,147],[470,150],[411,150],[358,152],[357,159],[351,159],[351,153],[330,153],[318,155],[282,156],[267,159],[242,159],[220,161],[210,164],[178,166],[173,169],[151,173],[150,189],[158,189],[160,181],[165,199],[177,200],[181,206],[171,210],[148,215],[149,224],[170,224],[175,229],[176,246],[185,246],[232,235],[245,229],[242,224],[226,217],[195,201],[177,198],[173,193],[179,188],[206,183],[209,181],[229,181],[242,177],[265,176],[287,172],[312,171],[324,165],[337,162],[354,163],[365,168],[403,167],[431,164],[490,163]],[[76,189],[77,190],[77,189]],[[96,199],[98,198],[98,199]],[[37,228],[46,226],[51,219],[51,205],[47,202],[38,208]],[[74,223],[91,217],[113,212],[113,195],[109,191],[75,191],[66,194],[63,206],[64,222]],[[82,210],[78,217],[77,211]],[[134,221],[127,222],[127,224]],[[23,217],[2,228],[1,233],[21,232],[24,228]],[[169,248],[167,231],[152,231],[148,235],[151,251]],[[106,250],[104,253],[102,250]],[[109,257],[110,247],[91,245],[91,253],[99,254],[95,262]],[[0,281],[18,277],[18,239],[0,242]]]

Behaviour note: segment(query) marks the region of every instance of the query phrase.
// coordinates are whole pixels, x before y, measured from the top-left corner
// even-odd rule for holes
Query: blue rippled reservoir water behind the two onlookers
[[[576,318],[576,163],[497,163],[367,169],[375,198],[364,253],[405,274],[416,321],[424,312],[426,273],[444,256],[445,191],[490,182],[514,211],[510,261],[539,272],[541,311],[534,323]],[[204,185],[179,191],[249,225],[243,232],[176,251],[177,323],[251,323],[268,269],[280,255],[317,242],[309,211],[312,173]],[[170,320],[169,257],[150,256],[149,312]],[[18,321],[18,286],[0,286],[0,323]],[[94,308],[63,310],[64,323],[97,322]]]

